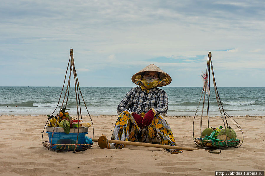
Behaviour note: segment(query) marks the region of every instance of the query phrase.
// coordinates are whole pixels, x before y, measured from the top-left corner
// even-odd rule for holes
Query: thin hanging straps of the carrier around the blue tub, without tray
[[[60,110],[59,110],[58,114],[60,114],[60,112],[61,112],[61,110],[62,110],[63,103],[64,103],[64,101],[65,101],[65,97],[66,97],[66,94],[67,94],[67,92],[68,92],[68,94],[67,94],[67,99],[66,99],[66,103],[65,103],[65,109],[66,109],[66,106],[67,106],[67,103],[68,103],[68,98],[69,98],[69,93],[70,93],[71,73],[72,73],[72,70],[73,70],[73,76],[74,76],[74,82],[75,82],[75,100],[76,100],[76,109],[77,109],[77,117],[78,117],[78,132],[77,132],[77,139],[76,139],[75,147],[74,147],[74,150],[73,150],[73,152],[75,152],[75,150],[76,150],[76,148],[77,148],[78,135],[79,135],[79,110],[80,110],[80,118],[82,119],[82,112],[81,112],[81,105],[80,105],[80,95],[81,95],[81,97],[82,97],[82,99],[83,99],[83,103],[84,103],[84,105],[85,105],[85,108],[86,108],[87,112],[88,112],[88,108],[87,108],[87,106],[86,106],[86,104],[85,104],[84,97],[83,97],[83,95],[82,95],[82,93],[81,93],[81,90],[80,90],[79,81],[78,81],[77,73],[76,73],[76,70],[75,70],[75,62],[74,62],[74,56],[73,56],[73,49],[70,49],[70,58],[69,58],[68,66],[67,66],[66,73],[65,73],[64,83],[63,83],[63,86],[62,86],[62,91],[63,91],[64,86],[65,86],[65,80],[66,80],[66,76],[67,76],[67,72],[68,72],[69,64],[70,64],[70,73],[69,73],[69,78],[68,78],[68,84],[67,84],[66,91],[65,91],[65,95],[64,95],[64,98],[63,98],[63,100],[62,100],[62,105],[61,105],[61,107],[60,107]],[[62,97],[62,91],[61,91],[60,98],[59,98],[59,100],[58,100],[57,106],[56,106],[55,110],[52,112],[52,114],[56,111],[56,109],[57,109],[57,107],[58,107],[58,105],[59,105],[59,103],[60,103],[60,99],[61,99],[61,97]],[[80,95],[79,95],[79,94],[80,94]],[[79,107],[79,109],[78,109],[78,107]],[[52,114],[51,114],[51,115],[52,115]],[[88,115],[89,115],[89,118],[90,118],[91,123],[92,123],[92,130],[93,130],[92,141],[93,141],[93,139],[94,139],[94,125],[93,125],[93,121],[92,121],[92,118],[91,118],[89,112],[88,112]],[[57,120],[58,120],[58,118],[56,119],[56,122],[55,122],[55,123],[57,123]],[[48,121],[49,121],[49,119],[47,120],[45,126],[47,125]],[[44,145],[44,143],[43,143],[43,133],[44,133],[44,130],[45,130],[45,126],[44,126],[43,131],[42,131],[42,144],[43,144],[44,147],[45,147],[45,145]],[[55,126],[54,126],[53,131],[52,131],[52,137],[53,137],[53,134],[54,134],[54,130],[55,130]],[[51,144],[52,144],[52,138],[51,138]],[[92,145],[93,145],[93,143],[92,143]],[[89,148],[91,148],[92,145],[91,145]],[[52,149],[52,145],[50,145],[50,148],[51,148],[51,150],[53,150],[53,149]]]

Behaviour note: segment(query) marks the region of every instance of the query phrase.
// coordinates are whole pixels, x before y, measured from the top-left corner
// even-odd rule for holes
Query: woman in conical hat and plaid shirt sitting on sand
[[[150,64],[134,74],[131,80],[140,87],[132,88],[118,105],[119,117],[111,139],[176,146],[172,131],[163,118],[167,114],[167,94],[157,88],[168,85],[171,82],[170,76]],[[123,144],[108,143],[105,136],[98,140],[101,141],[98,142],[100,148],[124,147]],[[171,149],[168,151],[172,154],[183,152]]]

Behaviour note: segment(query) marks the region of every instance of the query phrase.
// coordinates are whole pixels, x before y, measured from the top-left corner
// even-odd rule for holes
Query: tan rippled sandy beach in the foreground
[[[117,117],[92,116],[94,138],[102,134],[111,138]],[[232,116],[244,134],[239,148],[222,149],[220,154],[195,150],[175,155],[160,148],[128,145],[123,149],[100,149],[96,142],[82,152],[53,152],[41,142],[46,118],[0,116],[0,175],[214,175],[215,170],[265,170],[265,116]],[[178,146],[196,147],[192,138],[193,117],[165,118]],[[90,121],[88,117],[83,119]],[[210,122],[210,126],[222,125],[220,117],[211,117]],[[236,127],[231,122],[229,125]],[[199,134],[198,127],[195,134]],[[240,131],[234,129],[241,140]],[[87,136],[92,138],[92,128]],[[47,140],[45,133],[43,141]]]

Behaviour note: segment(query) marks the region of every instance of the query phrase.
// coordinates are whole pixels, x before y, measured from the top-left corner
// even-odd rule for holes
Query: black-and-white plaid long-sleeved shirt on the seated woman
[[[149,93],[142,90],[141,87],[134,87],[126,93],[121,103],[118,105],[117,113],[120,115],[126,110],[129,113],[141,114],[147,113],[149,109],[154,108],[162,116],[167,114],[167,94],[159,88],[152,88]]]

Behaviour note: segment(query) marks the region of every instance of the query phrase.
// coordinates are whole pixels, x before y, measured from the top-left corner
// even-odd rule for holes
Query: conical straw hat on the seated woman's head
[[[159,67],[157,67],[157,66],[155,66],[154,64],[150,64],[149,66],[146,66],[146,67],[144,67],[143,69],[141,69],[140,71],[138,71],[137,73],[135,73],[134,74],[134,76],[132,76],[131,77],[131,81],[134,83],[134,84],[136,84],[136,85],[138,85],[137,83],[135,83],[135,76],[136,75],[141,75],[141,74],[143,74],[144,72],[146,72],[146,71],[157,71],[157,72],[159,72],[159,76],[160,76],[160,78],[162,78],[162,77],[164,77],[164,76],[166,76],[167,78],[168,78],[168,83],[160,83],[158,86],[156,86],[156,87],[162,87],[162,86],[167,86],[168,84],[170,84],[171,83],[171,81],[172,81],[172,79],[171,79],[171,77],[166,73],[166,72],[164,72],[163,70],[161,70]]]

